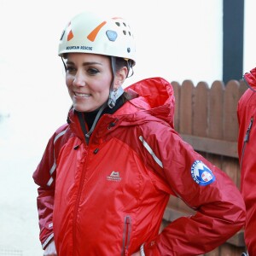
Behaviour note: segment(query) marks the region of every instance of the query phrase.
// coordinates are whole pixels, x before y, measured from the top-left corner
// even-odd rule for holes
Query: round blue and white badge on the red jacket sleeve
[[[195,160],[191,166],[191,176],[201,186],[207,186],[215,181],[212,171],[201,160]]]

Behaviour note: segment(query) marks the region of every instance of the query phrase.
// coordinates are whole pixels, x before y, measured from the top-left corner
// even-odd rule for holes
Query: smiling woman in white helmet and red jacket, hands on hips
[[[172,85],[122,89],[135,65],[125,20],[77,15],[59,55],[73,107],[33,174],[44,255],[197,255],[241,229],[236,185],[174,131]],[[159,234],[170,195],[196,213]]]

